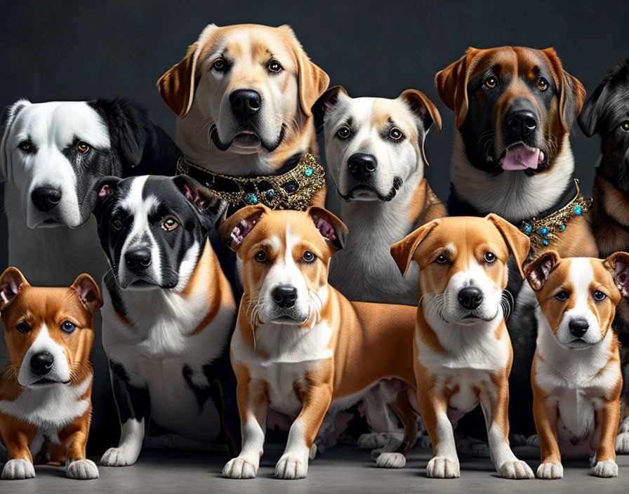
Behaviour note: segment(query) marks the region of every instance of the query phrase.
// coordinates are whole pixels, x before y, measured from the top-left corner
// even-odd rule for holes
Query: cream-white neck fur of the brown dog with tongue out
[[[550,170],[528,176],[521,171],[491,175],[476,168],[465,154],[461,133],[454,133],[451,180],[454,199],[469,203],[479,215],[496,213],[514,225],[534,218],[557,203],[572,183],[574,156],[569,135]]]

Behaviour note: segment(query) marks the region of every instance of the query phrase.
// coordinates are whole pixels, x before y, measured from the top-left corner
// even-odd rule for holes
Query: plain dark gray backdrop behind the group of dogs
[[[175,115],[155,82],[209,22],[287,23],[305,50],[350,95],[394,98],[424,91],[444,130],[428,137],[427,171],[448,191],[453,119],[437,98],[437,71],[468,46],[554,46],[591,92],[629,55],[629,1],[7,1],[0,8],[0,105],[18,98],[90,100],[124,96],[145,105],[168,133]],[[590,189],[599,142],[573,131],[577,175]],[[0,267],[6,266],[0,220]]]

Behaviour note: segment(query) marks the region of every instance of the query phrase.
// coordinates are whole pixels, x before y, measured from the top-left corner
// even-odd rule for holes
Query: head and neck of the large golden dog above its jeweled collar
[[[157,87],[180,117],[176,142],[188,159],[249,176],[317,154],[311,108],[328,84],[289,26],[211,24]]]

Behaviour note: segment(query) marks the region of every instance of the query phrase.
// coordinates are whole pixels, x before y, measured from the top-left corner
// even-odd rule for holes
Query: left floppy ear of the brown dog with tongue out
[[[470,63],[479,51],[477,48],[470,46],[463,57],[451,63],[442,71],[437,72],[435,76],[437,94],[444,102],[444,105],[454,111],[456,128],[463,125],[465,117],[468,115]]]

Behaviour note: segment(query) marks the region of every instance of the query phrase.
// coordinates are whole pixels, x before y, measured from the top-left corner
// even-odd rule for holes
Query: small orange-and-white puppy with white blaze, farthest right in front
[[[550,251],[527,266],[538,306],[531,369],[541,479],[564,476],[562,456],[588,455],[592,473],[618,476],[614,443],[623,385],[616,305],[629,295],[629,254],[560,258]]]

